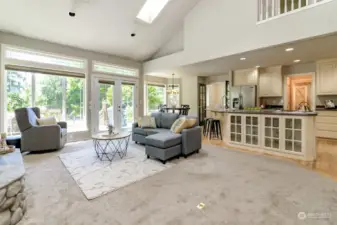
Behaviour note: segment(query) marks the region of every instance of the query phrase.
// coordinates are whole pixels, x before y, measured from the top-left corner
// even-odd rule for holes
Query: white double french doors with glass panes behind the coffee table
[[[92,132],[131,129],[137,118],[137,80],[123,80],[106,75],[93,79]]]

